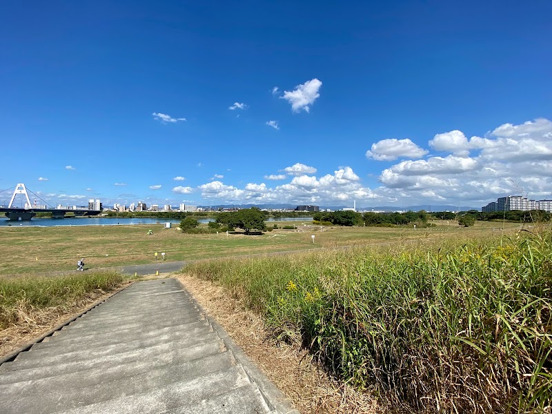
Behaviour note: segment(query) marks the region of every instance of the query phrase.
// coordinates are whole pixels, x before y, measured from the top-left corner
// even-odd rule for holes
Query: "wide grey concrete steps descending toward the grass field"
[[[0,366],[1,413],[297,413],[176,279],[137,282]]]

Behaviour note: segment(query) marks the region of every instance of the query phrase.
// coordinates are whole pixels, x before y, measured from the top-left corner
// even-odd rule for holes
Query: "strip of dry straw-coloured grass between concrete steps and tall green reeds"
[[[221,286],[188,275],[177,279],[301,413],[386,411],[373,396],[338,383],[317,368],[299,344],[275,344],[262,319]]]

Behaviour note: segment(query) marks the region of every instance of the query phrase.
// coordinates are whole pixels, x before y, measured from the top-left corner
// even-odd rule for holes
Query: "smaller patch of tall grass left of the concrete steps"
[[[126,279],[113,272],[0,279],[0,329],[32,322],[41,311],[63,312],[80,306],[85,299],[106,293]]]

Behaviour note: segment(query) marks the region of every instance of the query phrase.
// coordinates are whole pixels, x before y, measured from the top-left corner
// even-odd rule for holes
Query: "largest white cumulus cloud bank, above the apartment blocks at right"
[[[404,202],[484,205],[497,197],[520,194],[551,197],[552,122],[535,119],[502,124],[483,137],[461,130],[439,133],[428,141],[444,157],[401,161],[380,174],[380,194],[395,191]]]

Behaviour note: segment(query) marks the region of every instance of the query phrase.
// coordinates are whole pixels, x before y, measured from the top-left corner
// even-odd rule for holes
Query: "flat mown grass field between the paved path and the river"
[[[512,230],[520,224],[481,223],[459,228],[450,221],[435,221],[433,228],[319,227],[306,221],[282,221],[278,226],[295,224],[297,230],[277,229],[263,235],[219,233],[188,235],[162,224],[136,226],[56,226],[0,227],[0,275],[72,270],[83,257],[86,268],[105,268],[128,264],[175,262],[258,253],[297,251],[313,248],[339,248],[385,242],[401,242],[435,237],[457,237]],[[270,222],[269,225],[273,225]],[[306,224],[307,226],[303,226]],[[148,230],[153,231],[147,235]],[[313,237],[314,235],[314,243]]]

